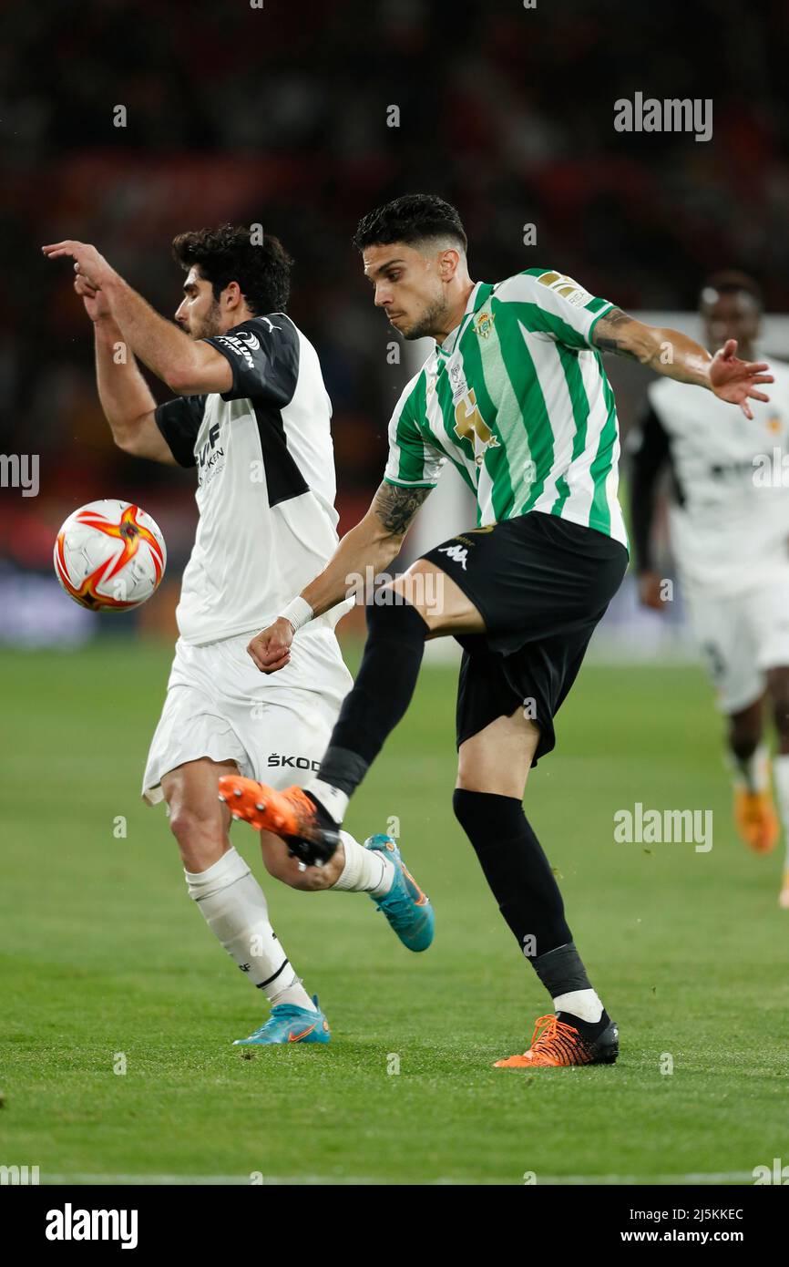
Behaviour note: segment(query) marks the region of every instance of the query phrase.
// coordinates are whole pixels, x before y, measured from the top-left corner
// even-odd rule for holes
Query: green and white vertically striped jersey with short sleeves
[[[627,545],[617,409],[591,345],[610,308],[545,269],[477,283],[398,400],[384,479],[432,488],[448,457],[483,527],[542,511]]]

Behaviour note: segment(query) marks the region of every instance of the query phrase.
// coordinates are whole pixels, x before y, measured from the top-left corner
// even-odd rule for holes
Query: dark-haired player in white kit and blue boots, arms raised
[[[314,347],[285,313],[293,261],[277,238],[243,227],[179,234],[174,256],[186,281],[174,326],[95,247],[66,241],[43,251],[75,261],[115,443],[198,470],[200,518],[143,796],[167,802],[190,896],[271,1003],[270,1019],[237,1041],[327,1043],[328,1021],[271,927],[218,796],[220,775],[285,787],[295,770],[318,769],[352,685],[334,636],[347,603],[310,623],[282,673],[260,674],[246,650],[338,541],[331,402]],[[156,405],[136,356],[174,400]],[[395,841],[379,835],[362,846],[339,836],[319,867],[263,831],[265,865],[294,888],[370,893],[404,945],[427,949],[433,911]]]

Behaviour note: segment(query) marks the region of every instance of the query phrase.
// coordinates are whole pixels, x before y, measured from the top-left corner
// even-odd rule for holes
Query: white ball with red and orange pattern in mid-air
[[[106,498],[70,514],[54,542],[54,574],[91,612],[128,612],[157,589],[167,550],[158,525],[130,502]]]

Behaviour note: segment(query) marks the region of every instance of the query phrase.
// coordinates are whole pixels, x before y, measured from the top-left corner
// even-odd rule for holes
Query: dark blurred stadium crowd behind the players
[[[380,479],[407,376],[351,236],[399,193],[458,205],[475,277],[546,265],[627,309],[688,309],[707,272],[736,266],[759,279],[767,309],[789,312],[779,0],[637,11],[613,0],[104,0],[14,6],[3,25],[0,450],[38,454],[41,487],[0,489],[0,639],[84,627],[52,578],[52,541],[71,509],[104,495],[139,500],[165,531],[170,589],[138,620],[168,627],[195,523],[194,473],[113,447],[90,326],[43,242],[94,242],[170,314],[176,232],[230,219],[280,234],[296,260],[290,312],[334,405],[341,528]],[[615,132],[614,101],[637,91],[712,98],[713,138]],[[529,223],[537,246],[523,245]],[[612,375],[623,431],[638,375]]]

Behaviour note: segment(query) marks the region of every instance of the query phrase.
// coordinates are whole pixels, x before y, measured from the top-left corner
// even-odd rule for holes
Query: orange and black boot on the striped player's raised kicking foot
[[[339,832],[320,822],[314,801],[299,787],[277,792],[241,774],[223,774],[219,799],[227,803],[233,818],[243,818],[257,831],[282,836],[290,851],[308,865],[328,862],[337,849]]]

